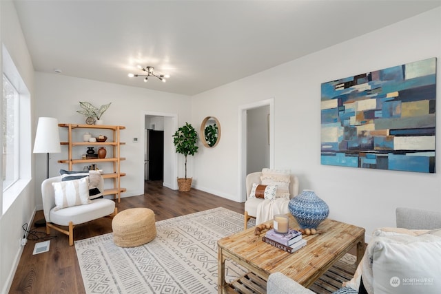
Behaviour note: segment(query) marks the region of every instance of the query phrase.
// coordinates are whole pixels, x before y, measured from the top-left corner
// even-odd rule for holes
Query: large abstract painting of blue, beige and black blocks
[[[321,85],[322,165],[435,173],[436,58]]]

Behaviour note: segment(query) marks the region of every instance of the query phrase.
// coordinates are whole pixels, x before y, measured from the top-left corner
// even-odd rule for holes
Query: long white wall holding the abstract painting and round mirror
[[[314,189],[329,204],[331,218],[365,227],[370,235],[376,227],[395,225],[397,206],[440,211],[439,172],[420,174],[320,165],[320,84],[433,56],[438,57],[439,69],[440,15],[441,8],[437,8],[194,96],[192,122],[198,125],[205,116],[216,116],[222,126],[218,146],[202,147],[194,158],[197,187],[209,187],[209,191],[220,196],[240,200],[238,108],[274,97],[274,167],[291,169],[300,180],[300,190]],[[437,111],[440,112],[439,103]],[[440,170],[439,148],[437,155],[436,166]]]

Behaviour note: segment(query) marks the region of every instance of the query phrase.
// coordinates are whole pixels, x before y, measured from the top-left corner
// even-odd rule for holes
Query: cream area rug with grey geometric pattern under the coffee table
[[[217,240],[242,230],[243,214],[218,207],[156,222],[156,238],[139,247],[116,246],[112,233],[75,241],[85,291],[217,293]],[[227,282],[244,273],[226,262]]]

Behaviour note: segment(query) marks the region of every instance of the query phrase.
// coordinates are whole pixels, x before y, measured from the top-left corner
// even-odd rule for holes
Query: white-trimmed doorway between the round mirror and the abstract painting
[[[262,111],[265,108],[261,108],[260,107],[269,107],[269,114],[267,113],[267,111]],[[256,109],[256,112],[254,113],[254,110]],[[255,130],[254,128],[249,128],[248,124],[251,124],[251,122],[248,123],[248,112],[250,111],[251,114],[258,114],[258,113],[263,113],[260,114],[260,117],[258,119],[263,120],[265,122],[265,127],[263,127],[263,129],[265,130],[265,132],[263,132],[263,134],[265,134],[264,136],[262,136],[262,134],[258,134],[257,136],[259,137],[259,139],[257,140],[261,140],[262,138],[265,138],[265,140],[263,140],[264,143],[258,143],[258,144],[269,144],[269,152],[267,154],[268,158],[269,158],[269,167],[270,169],[274,168],[274,98],[270,98],[264,101],[258,101],[256,103],[252,103],[252,104],[248,104],[248,105],[240,105],[239,106],[239,180],[238,180],[238,193],[240,195],[240,202],[245,202],[245,200],[247,200],[246,197],[246,186],[245,186],[245,178],[247,177],[247,172],[248,172],[248,146],[252,143],[249,142],[249,140],[254,140],[251,137],[248,138],[249,136],[249,132],[251,132],[251,130]],[[253,120],[256,118],[253,118]],[[254,132],[254,131],[253,131]],[[250,136],[252,136],[252,134],[250,134]],[[257,138],[257,137],[256,137]],[[251,141],[254,143],[254,141]],[[261,141],[260,141],[261,142]],[[264,148],[265,149],[265,148]],[[267,152],[267,151],[264,151]],[[252,158],[250,159],[252,160]],[[268,161],[267,161],[268,162]],[[265,162],[265,165],[267,164],[267,162]],[[255,169],[256,167],[250,167],[250,171],[251,169]]]

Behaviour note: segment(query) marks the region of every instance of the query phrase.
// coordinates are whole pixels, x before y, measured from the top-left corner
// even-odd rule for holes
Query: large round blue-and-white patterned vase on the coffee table
[[[300,229],[317,229],[318,224],[329,216],[328,204],[312,190],[303,190],[289,200],[288,209]]]

